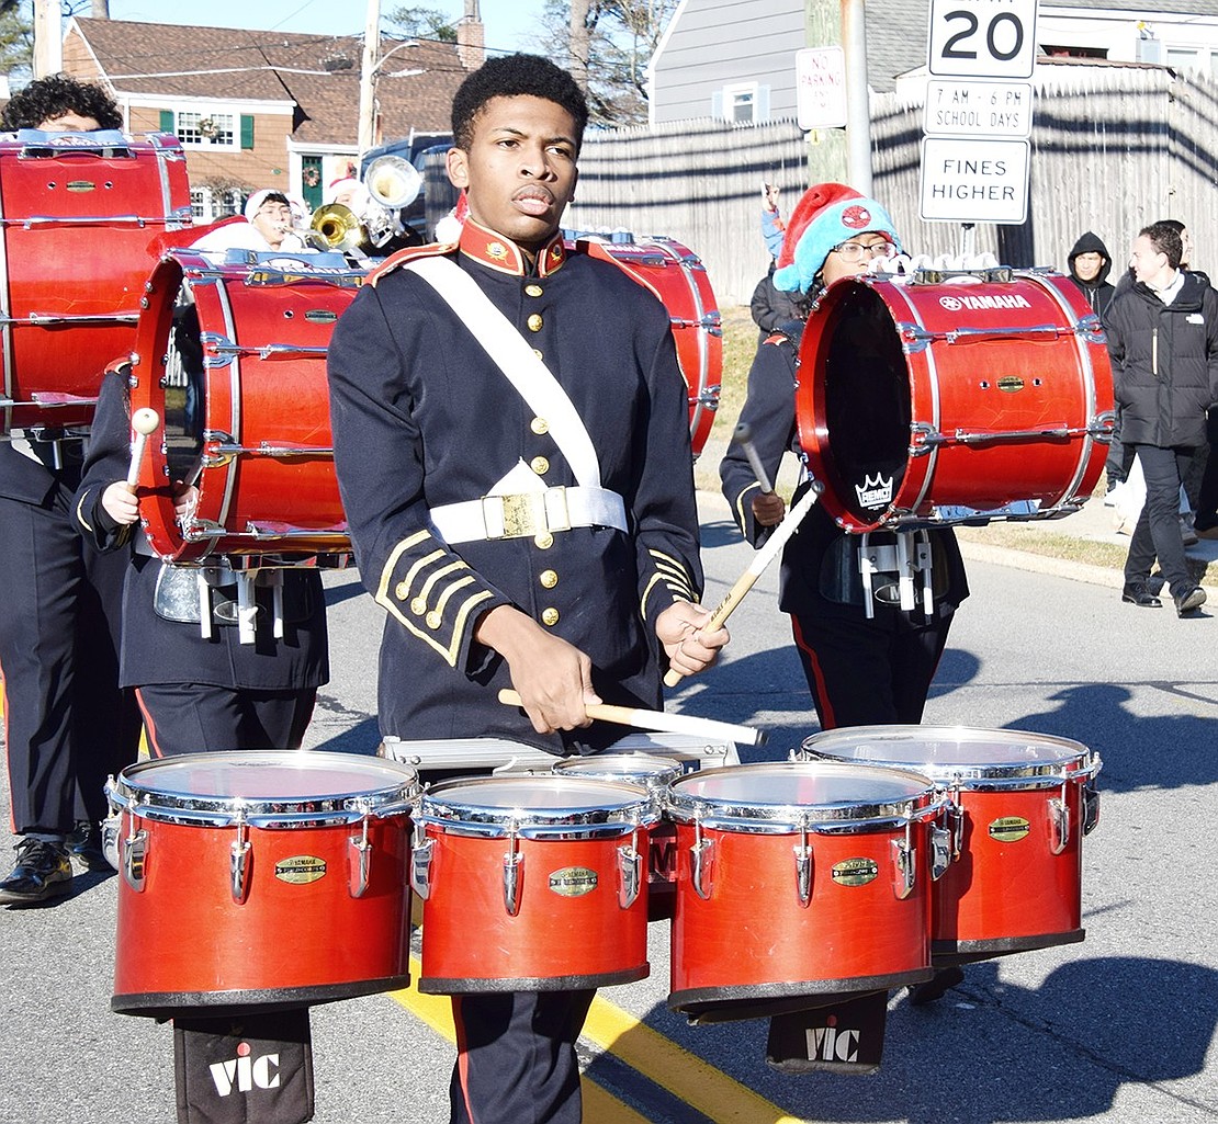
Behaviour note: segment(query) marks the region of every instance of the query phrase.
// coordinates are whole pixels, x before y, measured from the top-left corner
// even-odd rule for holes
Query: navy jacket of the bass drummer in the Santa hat
[[[815,315],[815,313],[814,313]],[[753,431],[753,444],[770,479],[773,480],[782,462],[782,454],[790,449],[803,457],[795,426],[795,370],[803,324],[783,325],[781,334],[771,336],[758,348],[749,370],[748,396],[741,410],[741,423]],[[732,508],[745,539],[760,547],[772,529],[760,526],[753,518],[753,497],[760,485],[741,446],[732,443],[719,468],[723,496]],[[801,485],[797,497],[803,494]],[[780,608],[792,614],[836,614],[861,619],[861,609],[826,597],[823,589],[832,587],[827,570],[827,554],[845,532],[838,527],[828,510],[820,503],[799,525],[782,555],[780,581]],[[872,542],[884,542],[877,532]],[[968,595],[963,561],[956,536],[950,529],[937,530],[931,541],[934,548],[935,589],[942,589],[942,600],[955,606]],[[823,580],[822,580],[823,575]],[[945,588],[944,588],[945,586]]]

